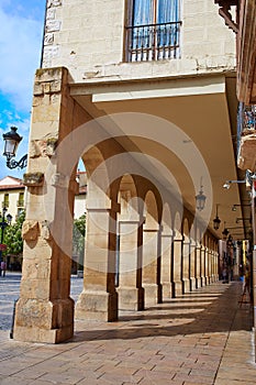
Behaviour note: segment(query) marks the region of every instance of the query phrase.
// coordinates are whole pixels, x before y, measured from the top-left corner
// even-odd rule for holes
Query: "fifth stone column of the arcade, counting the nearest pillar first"
[[[163,299],[172,297],[171,290],[171,248],[172,248],[172,231],[166,230],[162,233],[162,286]]]

